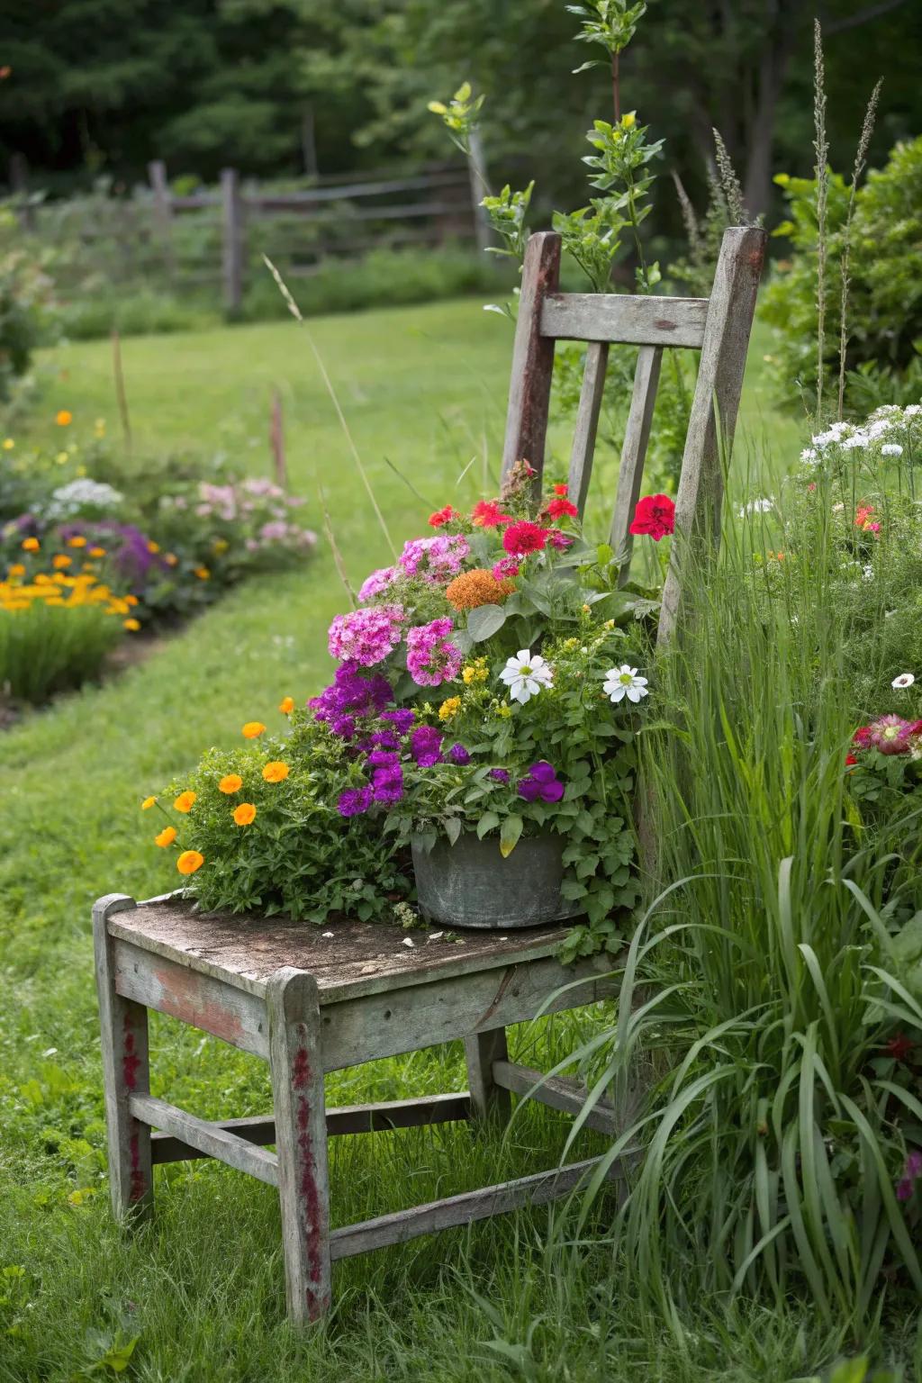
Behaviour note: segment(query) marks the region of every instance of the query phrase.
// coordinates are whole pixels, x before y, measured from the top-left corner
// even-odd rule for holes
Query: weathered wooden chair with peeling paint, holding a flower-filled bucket
[[[503,467],[525,458],[540,474],[554,340],[589,343],[571,461],[581,509],[589,485],[608,346],[640,347],[621,461],[612,546],[628,527],[643,476],[662,351],[701,350],[676,520],[687,532],[716,528],[724,443],[733,434],[764,232],[728,230],[711,299],[557,292],[560,238],[528,245],[513,355]],[[677,546],[673,548],[673,552]],[[623,579],[623,573],[622,573]],[[680,561],[666,582],[661,638],[675,628]],[[343,921],[333,938],[283,918],[206,916],[181,893],[135,903],[111,893],[94,907],[94,938],[109,1176],[119,1216],[149,1213],[152,1166],[216,1158],[278,1187],[293,1321],[330,1304],[335,1260],[467,1224],[525,1203],[567,1195],[594,1164],[579,1162],[431,1205],[329,1228],[328,1138],[412,1124],[510,1115],[510,1091],[554,1109],[582,1106],[575,1083],[547,1080],[509,1061],[506,1028],[539,1012],[575,1008],[615,993],[611,958],[564,967],[554,952],[564,928],[507,936],[469,932],[466,945],[409,950],[394,925]],[[170,1014],[270,1064],[274,1113],[210,1123],[151,1094],[148,1010]],[[470,1091],[326,1109],[325,1072],[463,1039]],[[593,1111],[589,1126],[618,1129],[618,1112]],[[152,1133],[152,1130],[159,1130]],[[267,1151],[270,1145],[275,1152]],[[615,1177],[621,1169],[612,1169]]]

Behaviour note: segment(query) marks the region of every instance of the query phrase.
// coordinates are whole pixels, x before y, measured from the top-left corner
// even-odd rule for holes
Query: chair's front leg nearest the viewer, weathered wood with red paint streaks
[[[317,982],[285,967],[268,983],[288,1312],[294,1325],[330,1307],[326,1106]]]

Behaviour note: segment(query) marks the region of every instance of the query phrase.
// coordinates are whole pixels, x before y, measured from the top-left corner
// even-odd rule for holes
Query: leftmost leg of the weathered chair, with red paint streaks
[[[113,913],[134,906],[123,893],[101,898],[93,909],[93,939],[112,1209],[119,1218],[144,1220],[153,1210],[151,1129],[131,1117],[129,1097],[151,1093],[148,1011],[115,992],[113,942],[106,925]]]

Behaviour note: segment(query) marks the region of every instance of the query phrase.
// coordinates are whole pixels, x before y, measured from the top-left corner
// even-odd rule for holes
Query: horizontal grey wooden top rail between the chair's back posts
[[[626,293],[547,293],[539,332],[554,340],[699,350],[708,297],[639,297]]]

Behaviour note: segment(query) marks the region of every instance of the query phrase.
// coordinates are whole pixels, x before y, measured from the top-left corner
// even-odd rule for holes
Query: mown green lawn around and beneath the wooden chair
[[[503,324],[464,301],[318,319],[311,332],[394,544],[420,531],[426,506],[387,461],[433,508],[492,488],[511,346]],[[763,350],[758,339],[737,470],[769,484],[795,454],[798,429],[767,408]],[[123,357],[138,448],[220,445],[252,473],[267,470],[268,394],[278,387],[292,488],[308,496],[315,526],[319,476],[351,577],[390,559],[293,322],[135,337]],[[59,407],[73,412],[77,437],[97,416],[116,426],[108,343],[61,350],[48,368],[59,373],[35,436],[53,434],[41,418]],[[563,467],[563,436],[554,454]],[[335,1369],[344,1379],[611,1383],[809,1375],[836,1348],[809,1315],[702,1308],[676,1340],[618,1299],[604,1253],[582,1268],[545,1253],[546,1212],[337,1267],[336,1314],[303,1342],[283,1321],[270,1188],[205,1163],[178,1166],[158,1174],[162,1213],[151,1228],[127,1241],[112,1224],[90,906],[113,889],[147,896],[174,887],[140,799],[205,745],[235,743],[245,721],[275,729],[282,696],[317,692],[332,667],[325,631],[341,606],[322,546],[311,567],[247,584],[142,665],[0,737],[0,1270],[23,1270],[0,1279],[0,1379],[83,1376],[111,1342],[135,1336],[131,1376],[191,1383],[326,1379]],[[520,1029],[514,1050],[547,1066],[600,1018],[590,1011]],[[152,1048],[156,1094],[205,1116],[268,1108],[261,1062],[166,1019],[153,1023]],[[451,1046],[337,1073],[329,1099],[424,1094],[463,1080]],[[543,1109],[527,1111],[505,1145],[467,1127],[339,1140],[336,1223],[552,1164],[561,1144],[561,1122]]]

